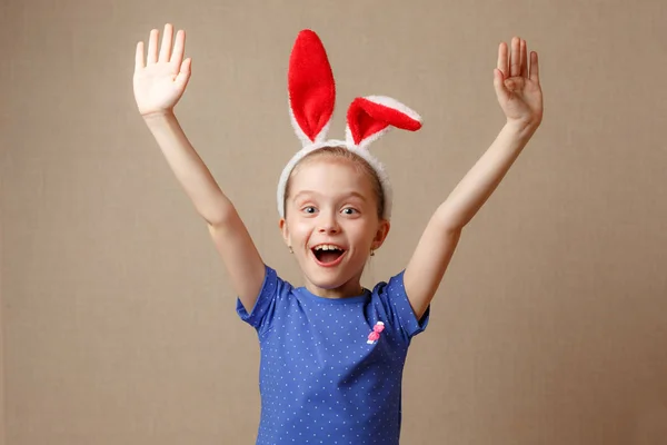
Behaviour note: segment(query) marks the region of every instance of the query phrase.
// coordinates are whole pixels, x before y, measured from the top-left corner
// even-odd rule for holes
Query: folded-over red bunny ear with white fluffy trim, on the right
[[[366,147],[382,136],[389,126],[417,131],[421,117],[396,99],[385,96],[357,98],[348,109],[348,144]]]

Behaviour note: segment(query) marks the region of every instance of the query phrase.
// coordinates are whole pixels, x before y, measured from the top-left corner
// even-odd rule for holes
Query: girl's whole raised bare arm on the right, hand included
[[[442,280],[464,227],[498,187],[542,119],[537,52],[526,41],[511,40],[498,48],[494,86],[507,122],[496,140],[442,202],[424,231],[404,275],[406,293],[421,317]]]

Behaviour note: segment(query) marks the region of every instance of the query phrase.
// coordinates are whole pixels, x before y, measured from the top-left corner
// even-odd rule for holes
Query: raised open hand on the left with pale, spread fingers
[[[143,42],[137,43],[135,60],[135,99],[141,116],[172,112],[190,79],[190,63],[183,60],[186,48],[186,32],[179,30],[176,34],[173,48],[173,27],[165,26],[162,44],[158,53],[159,31],[150,31],[148,40],[148,55],[145,61]]]

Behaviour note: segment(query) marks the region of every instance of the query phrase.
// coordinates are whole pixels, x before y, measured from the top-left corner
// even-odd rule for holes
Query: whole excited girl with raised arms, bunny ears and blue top
[[[507,122],[430,219],[400,274],[360,285],[369,256],[389,233],[391,188],[368,146],[389,127],[420,128],[419,116],[385,97],[356,99],[346,140],[326,140],[334,77],[312,31],[290,59],[292,123],[302,142],[278,186],[280,229],[303,274],[295,288],[265,265],[235,207],[180,128],[173,107],[190,78],[185,32],[152,30],[136,55],[135,96],[177,179],[206,220],[238,294],[239,316],[261,346],[257,444],[398,444],[401,376],[410,339],[464,227],[496,189],[542,117],[537,53],[500,43],[494,86]]]

